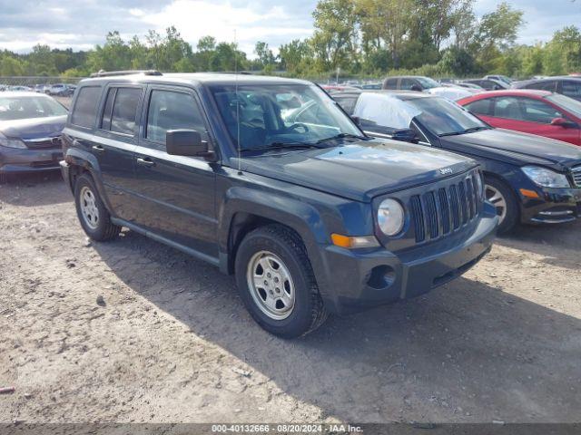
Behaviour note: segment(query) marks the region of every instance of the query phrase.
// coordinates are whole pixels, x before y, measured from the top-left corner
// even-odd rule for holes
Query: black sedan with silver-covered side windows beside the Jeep
[[[338,92],[332,97],[370,136],[407,140],[478,160],[499,233],[518,222],[581,218],[581,149],[494,129],[469,111],[419,92]]]

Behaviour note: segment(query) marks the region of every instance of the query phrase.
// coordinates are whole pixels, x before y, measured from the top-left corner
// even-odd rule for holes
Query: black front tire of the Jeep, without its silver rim
[[[291,314],[276,320],[262,312],[254,300],[247,281],[247,270],[253,256],[268,251],[280,257],[294,283],[294,305]],[[317,329],[328,313],[320,297],[319,287],[309,257],[300,237],[288,227],[269,225],[251,231],[236,253],[236,284],[244,305],[263,329],[281,338],[296,338]]]

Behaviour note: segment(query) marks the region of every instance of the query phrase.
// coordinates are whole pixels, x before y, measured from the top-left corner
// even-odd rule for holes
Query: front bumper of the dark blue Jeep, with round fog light
[[[442,239],[398,255],[385,248],[324,247],[324,275],[317,276],[321,295],[331,313],[347,314],[425,294],[476,265],[492,247],[497,223],[494,210],[486,208],[463,242]]]

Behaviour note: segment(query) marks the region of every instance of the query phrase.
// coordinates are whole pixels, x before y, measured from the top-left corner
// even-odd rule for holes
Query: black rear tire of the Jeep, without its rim
[[[94,205],[98,212],[98,220],[94,227],[88,223],[82,211],[81,204],[84,199],[81,198],[81,195],[82,192],[85,191],[84,189],[88,189],[94,195]],[[83,227],[84,232],[88,237],[91,237],[93,240],[98,242],[104,242],[119,236],[121,227],[114,225],[111,222],[111,215],[107,208],[105,208],[103,200],[99,196],[99,191],[96,189],[94,181],[90,175],[83,174],[76,179],[74,183],[74,204],[76,206],[77,217],[79,218],[79,222],[81,222],[81,227]]]

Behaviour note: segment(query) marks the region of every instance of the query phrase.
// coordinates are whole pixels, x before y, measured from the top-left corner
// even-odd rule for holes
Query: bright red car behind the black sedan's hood
[[[482,92],[458,100],[493,127],[581,145],[581,102],[548,91]]]

